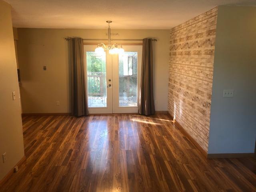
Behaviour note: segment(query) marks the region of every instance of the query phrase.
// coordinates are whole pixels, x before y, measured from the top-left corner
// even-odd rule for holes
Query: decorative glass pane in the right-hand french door
[[[138,52],[119,55],[119,106],[137,106]]]

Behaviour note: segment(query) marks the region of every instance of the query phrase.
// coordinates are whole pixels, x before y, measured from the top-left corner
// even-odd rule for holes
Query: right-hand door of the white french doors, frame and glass
[[[112,56],[113,112],[138,113],[142,45],[122,45],[125,52]]]

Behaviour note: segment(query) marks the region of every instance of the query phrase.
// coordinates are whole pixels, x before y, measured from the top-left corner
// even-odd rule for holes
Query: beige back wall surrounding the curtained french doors
[[[107,30],[18,29],[18,59],[24,113],[70,112],[69,51],[64,37],[107,38]],[[156,110],[167,110],[169,30],[112,30],[112,38],[157,38],[153,42]],[[43,70],[47,66],[47,70]],[[56,106],[60,101],[60,106]]]

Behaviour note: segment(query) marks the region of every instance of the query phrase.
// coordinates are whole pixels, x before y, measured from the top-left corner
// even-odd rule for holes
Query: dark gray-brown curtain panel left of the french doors
[[[84,43],[82,38],[70,38],[72,115],[88,115],[86,68],[84,64]]]

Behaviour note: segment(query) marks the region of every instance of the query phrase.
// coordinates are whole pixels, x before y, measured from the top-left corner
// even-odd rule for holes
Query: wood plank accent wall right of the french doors
[[[217,7],[170,31],[168,112],[207,152]]]

